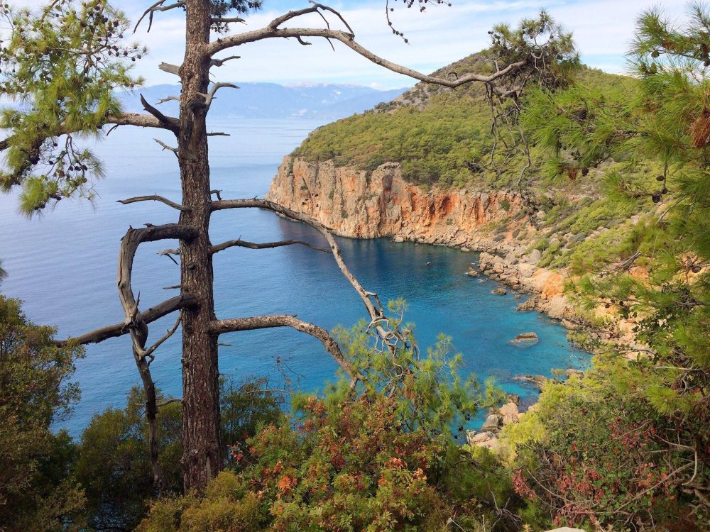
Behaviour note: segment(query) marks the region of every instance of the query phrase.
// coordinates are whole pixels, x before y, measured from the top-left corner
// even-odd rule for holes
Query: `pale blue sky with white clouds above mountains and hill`
[[[449,0],[452,6],[430,6],[424,13],[405,9],[402,0],[390,0],[395,26],[405,33],[409,43],[392,34],[385,17],[386,0],[333,1],[322,3],[338,9],[353,28],[356,40],[377,55],[420,72],[429,73],[461,59],[488,44],[486,33],[494,24],[514,25],[520,18],[535,16],[547,9],[574,38],[582,60],[606,72],[624,72],[624,53],[628,50],[635,19],[652,5],[659,5],[672,18],[682,20],[685,0]],[[21,4],[39,0],[19,0]],[[153,0],[114,0],[136,21]],[[170,0],[168,0],[170,4]],[[250,15],[245,24],[231,25],[231,33],[266,26],[275,16],[290,9],[309,6],[307,0],[266,0],[264,9]],[[329,18],[333,18],[330,16]],[[286,26],[322,27],[318,16],[304,16]],[[337,21],[332,25],[338,27]],[[153,28],[146,33],[143,23],[133,38],[148,46],[148,55],[138,62],[134,72],[146,78],[147,85],[175,84],[177,78],[158,70],[160,62],[179,65],[184,53],[184,12],[179,9],[155,13]],[[302,46],[295,40],[273,39],[250,43],[222,55],[240,55],[240,60],[215,68],[214,81],[351,83],[377,89],[410,87],[413,81],[388,72],[360,57],[341,43],[335,52],[324,40],[312,40]]]

